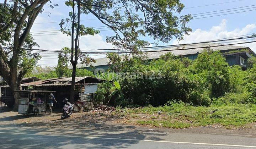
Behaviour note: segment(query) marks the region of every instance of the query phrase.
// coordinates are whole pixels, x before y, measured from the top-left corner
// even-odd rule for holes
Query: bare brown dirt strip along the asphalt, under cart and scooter
[[[126,117],[115,117],[110,114],[100,112],[74,113],[65,120],[60,119],[61,113],[35,115],[19,115],[13,111],[0,111],[0,127],[17,125],[32,127],[54,127],[54,128],[78,128],[78,129],[114,129],[122,126],[133,126],[141,130],[159,130],[175,133],[204,133],[204,134],[240,134],[244,136],[256,137],[256,123],[251,123],[249,127],[225,129],[221,125],[194,127],[183,129],[156,128],[150,126],[135,126],[125,123]],[[68,124],[68,125],[67,125]],[[129,128],[129,127],[127,127]]]

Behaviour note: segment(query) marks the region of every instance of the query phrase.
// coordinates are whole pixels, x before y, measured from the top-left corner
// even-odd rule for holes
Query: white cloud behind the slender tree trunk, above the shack
[[[55,22],[53,20],[49,20],[50,18],[44,18],[38,16],[35,23],[39,22]],[[58,24],[58,23],[57,23]],[[34,24],[31,32],[33,34],[33,38],[40,46],[39,48],[34,47],[34,49],[62,49],[63,47],[71,47],[71,37],[68,37],[66,34],[61,34],[59,27],[53,26],[52,24]],[[45,33],[38,31],[54,31],[55,33]],[[33,33],[34,32],[34,33]],[[36,32],[36,33],[35,33]],[[56,33],[57,32],[57,33]],[[43,34],[38,34],[43,33]],[[58,35],[46,35],[46,34],[58,34]],[[79,42],[80,49],[110,49],[113,48],[111,43],[107,43],[102,35],[86,35],[80,37]],[[57,65],[57,56],[58,53],[41,53],[43,59],[39,61],[39,65],[42,66],[56,66]],[[105,57],[105,54],[97,54],[92,55],[91,57],[100,58]]]

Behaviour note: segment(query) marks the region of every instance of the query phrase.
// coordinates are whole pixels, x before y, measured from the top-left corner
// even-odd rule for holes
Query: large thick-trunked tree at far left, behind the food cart
[[[21,90],[21,79],[40,59],[38,53],[31,53],[38,46],[30,29],[43,6],[49,0],[7,0],[0,3],[0,75],[11,90]],[[57,6],[50,5],[50,7]],[[18,108],[18,94],[14,92],[14,110]]]

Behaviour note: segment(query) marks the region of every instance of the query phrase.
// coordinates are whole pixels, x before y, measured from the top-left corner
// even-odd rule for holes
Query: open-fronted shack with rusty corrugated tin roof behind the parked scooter
[[[53,90],[57,107],[62,107],[62,100],[70,96],[72,77],[53,78],[22,84],[23,87],[32,86],[34,90]],[[76,77],[75,101],[91,101],[97,90],[97,84],[103,80],[94,77]]]

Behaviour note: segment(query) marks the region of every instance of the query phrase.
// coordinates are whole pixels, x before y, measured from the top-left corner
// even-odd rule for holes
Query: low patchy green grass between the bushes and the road
[[[124,113],[122,115],[133,118],[138,125],[168,128],[188,128],[191,126],[218,124],[230,128],[256,122],[256,105],[254,104],[211,105],[204,107],[174,103],[170,106],[126,109]],[[140,114],[148,115],[148,117],[141,118],[136,116]]]

